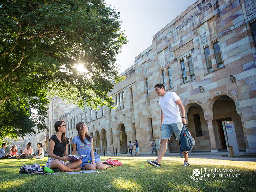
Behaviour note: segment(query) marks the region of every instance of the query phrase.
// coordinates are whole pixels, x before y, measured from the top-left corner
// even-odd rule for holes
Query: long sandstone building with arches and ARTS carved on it
[[[127,153],[129,141],[138,140],[140,153],[149,154],[152,140],[161,138],[154,85],[163,83],[181,98],[194,151],[227,148],[221,121],[232,120],[239,149],[256,153],[255,21],[255,1],[198,0],[153,36],[152,45],[122,73],[124,81],[113,82],[109,94],[115,110],[61,111],[51,104],[46,138],[54,134],[54,122],[63,119],[70,153],[75,126],[84,121],[100,153],[111,154],[113,147]],[[179,150],[172,136],[167,153]]]

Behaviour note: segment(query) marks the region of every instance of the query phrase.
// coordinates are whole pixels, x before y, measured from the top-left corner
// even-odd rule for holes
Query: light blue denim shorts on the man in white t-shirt
[[[180,140],[181,129],[182,129],[182,122],[170,123],[170,124],[163,123],[161,126],[161,139],[170,140],[172,136],[172,132],[174,132],[176,136],[176,140]]]

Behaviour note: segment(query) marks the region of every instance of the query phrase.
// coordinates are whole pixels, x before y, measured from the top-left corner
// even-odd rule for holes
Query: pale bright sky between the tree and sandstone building
[[[121,30],[129,42],[117,56],[122,73],[134,64],[134,58],[152,45],[153,35],[185,11],[196,0],[106,0],[120,12]]]

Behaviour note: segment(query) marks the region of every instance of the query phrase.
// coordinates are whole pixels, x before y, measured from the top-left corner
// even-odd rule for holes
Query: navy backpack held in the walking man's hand
[[[185,126],[185,128],[184,128]],[[186,153],[188,153],[188,151],[191,151],[191,149],[193,148],[193,146],[195,145],[195,140],[194,138],[190,135],[190,132],[188,130],[187,125],[185,125],[183,123],[183,127],[182,130],[180,132],[180,157],[184,157],[182,154],[182,151],[184,151]]]

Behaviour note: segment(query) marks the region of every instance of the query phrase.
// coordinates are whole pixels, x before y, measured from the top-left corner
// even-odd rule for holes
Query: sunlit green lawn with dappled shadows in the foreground
[[[101,158],[106,160],[107,156]],[[116,158],[116,157],[115,157]],[[156,168],[149,165],[148,157],[117,157],[123,165],[99,170],[101,173],[68,175],[30,175],[19,174],[23,164],[45,165],[47,157],[43,159],[12,159],[0,160],[0,191],[38,191],[38,192],[169,192],[169,191],[256,191],[255,176],[256,162],[228,161],[216,159],[190,158],[190,167],[181,167],[182,158],[164,157],[162,167]],[[143,166],[144,165],[144,166]],[[201,167],[202,175],[207,169],[240,169],[240,178],[219,178],[225,182],[191,180],[192,167]],[[219,174],[219,172],[212,172]],[[211,173],[211,174],[212,174]],[[233,175],[234,173],[225,173]],[[211,178],[212,179],[212,178]],[[210,180],[210,179],[209,179]],[[214,180],[214,179],[213,179]],[[218,180],[216,178],[216,180]]]

